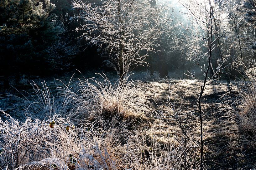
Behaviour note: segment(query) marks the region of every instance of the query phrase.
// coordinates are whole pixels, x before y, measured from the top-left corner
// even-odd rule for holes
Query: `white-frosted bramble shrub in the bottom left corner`
[[[12,170],[31,160],[41,161],[45,157],[54,158],[56,153],[61,156],[65,154],[63,147],[69,135],[63,135],[65,129],[63,126],[70,122],[67,123],[65,119],[55,119],[54,122],[58,124],[58,128],[50,128],[49,124],[53,121],[52,119],[32,121],[28,117],[25,122],[20,122],[8,114],[5,115],[5,121],[0,119],[0,145],[3,151],[0,157],[0,167],[8,167],[7,169]],[[66,151],[69,152],[69,150]]]

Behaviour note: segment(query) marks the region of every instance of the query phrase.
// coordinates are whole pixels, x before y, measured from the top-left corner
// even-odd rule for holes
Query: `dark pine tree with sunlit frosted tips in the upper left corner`
[[[54,8],[50,0],[0,0],[0,70],[5,86],[12,70],[19,82],[21,67],[32,67],[41,60],[44,49],[64,31],[52,14]]]

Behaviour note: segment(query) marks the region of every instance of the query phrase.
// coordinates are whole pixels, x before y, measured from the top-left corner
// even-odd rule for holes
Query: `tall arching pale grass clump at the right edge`
[[[225,114],[226,132],[250,142],[256,139],[256,80],[251,78],[237,89],[222,97],[219,111]]]

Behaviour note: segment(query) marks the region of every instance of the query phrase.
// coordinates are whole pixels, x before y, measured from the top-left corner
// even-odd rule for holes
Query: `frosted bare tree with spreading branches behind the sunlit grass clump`
[[[149,0],[102,0],[101,3],[73,2],[84,24],[80,38],[96,45],[110,56],[107,65],[121,79],[140,64],[146,63],[148,51],[159,43],[157,39],[170,31],[167,7],[152,6]]]

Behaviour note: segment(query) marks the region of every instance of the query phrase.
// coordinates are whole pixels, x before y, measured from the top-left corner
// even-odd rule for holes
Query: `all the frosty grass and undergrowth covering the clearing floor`
[[[197,80],[144,84],[131,77],[120,81],[102,74],[97,79],[73,78],[66,84],[56,80],[31,85],[29,92],[8,94],[2,100],[8,102],[1,106],[2,169],[199,168],[198,115],[183,114],[197,102],[201,85]],[[205,169],[254,167],[251,146],[255,146],[256,85],[240,90],[230,86],[231,98],[224,100],[229,103],[217,103],[224,99],[219,100],[220,94],[230,88],[222,82],[208,85],[202,99]],[[236,97],[234,91],[239,91]],[[173,107],[179,110],[178,119],[186,135]],[[244,144],[250,147],[244,148]]]

